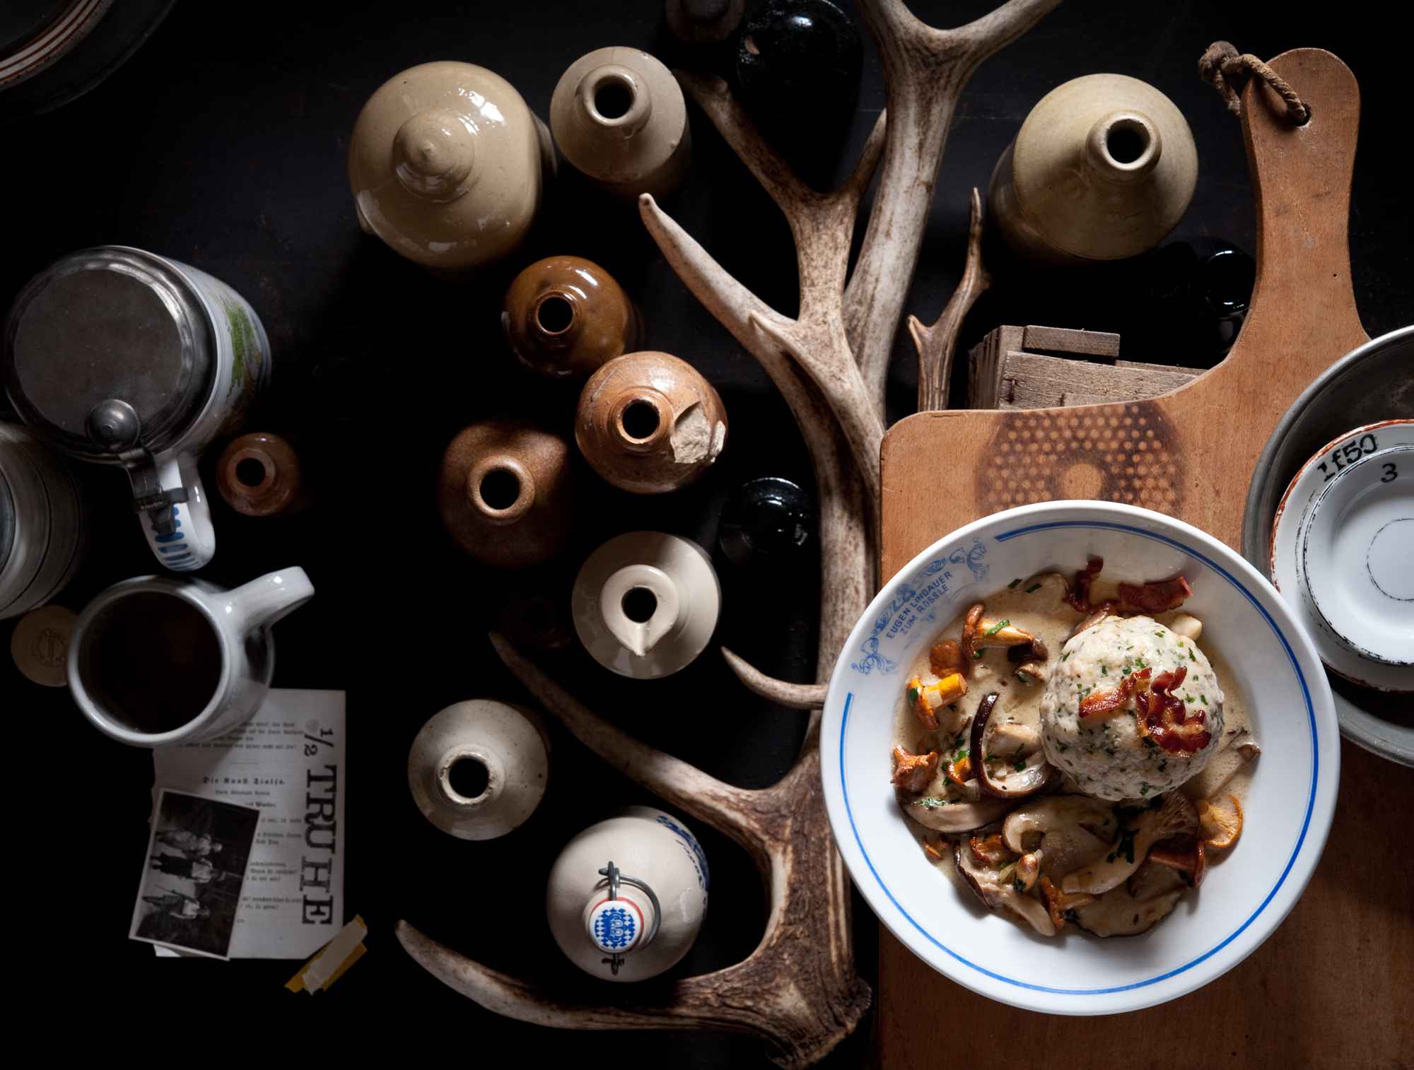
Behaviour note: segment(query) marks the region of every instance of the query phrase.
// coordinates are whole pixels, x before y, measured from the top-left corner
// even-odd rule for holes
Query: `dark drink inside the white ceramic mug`
[[[221,639],[184,598],[141,591],[109,605],[79,650],[89,695],[117,724],[171,732],[221,684]]]

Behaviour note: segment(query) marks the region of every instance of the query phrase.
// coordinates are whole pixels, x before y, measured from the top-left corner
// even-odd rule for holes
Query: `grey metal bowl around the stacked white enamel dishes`
[[[1270,575],[1273,523],[1292,478],[1322,444],[1343,444],[1350,428],[1387,420],[1414,420],[1414,327],[1353,349],[1287,410],[1257,459],[1247,492],[1243,555]],[[1332,683],[1340,732],[1366,751],[1414,766],[1414,712],[1407,697],[1335,677]]]

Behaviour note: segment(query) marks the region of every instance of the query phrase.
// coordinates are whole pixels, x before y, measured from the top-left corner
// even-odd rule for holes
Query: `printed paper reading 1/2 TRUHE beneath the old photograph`
[[[255,807],[230,958],[304,958],[344,924],[342,691],[273,690],[240,728],[154,752],[156,793]]]

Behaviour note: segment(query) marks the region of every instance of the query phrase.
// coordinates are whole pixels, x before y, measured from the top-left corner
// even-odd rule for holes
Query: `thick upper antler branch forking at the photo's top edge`
[[[953,110],[977,65],[1060,0],[1008,0],[956,30],[935,30],[902,0],[860,0],[888,86],[889,131],[854,274],[844,291],[850,348],[882,411],[884,384]]]

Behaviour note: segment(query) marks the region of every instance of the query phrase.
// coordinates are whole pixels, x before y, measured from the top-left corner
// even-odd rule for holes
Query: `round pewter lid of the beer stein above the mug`
[[[187,280],[122,246],[72,253],[35,276],[10,308],[0,358],[24,421],[90,461],[171,448],[201,414],[216,368]]]

